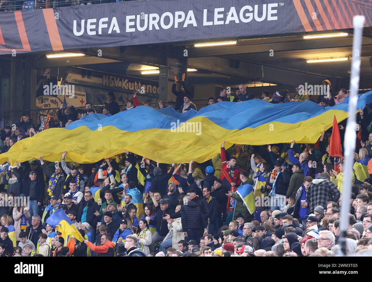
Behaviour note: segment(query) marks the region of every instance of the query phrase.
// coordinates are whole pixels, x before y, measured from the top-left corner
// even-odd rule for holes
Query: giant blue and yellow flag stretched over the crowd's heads
[[[372,91],[359,96],[357,110],[372,102]],[[93,114],[66,128],[49,128],[20,140],[0,163],[12,165],[42,156],[60,161],[94,163],[124,150],[162,163],[194,160],[202,163],[232,144],[315,143],[323,131],[347,118],[348,99],[333,106],[307,100],[272,104],[263,100],[220,102],[195,112],[178,113],[172,108],[138,106],[113,116]],[[182,122],[187,122],[182,124]],[[186,126],[187,125],[187,126]],[[192,132],[189,132],[189,131]],[[186,131],[186,132],[185,132]]]

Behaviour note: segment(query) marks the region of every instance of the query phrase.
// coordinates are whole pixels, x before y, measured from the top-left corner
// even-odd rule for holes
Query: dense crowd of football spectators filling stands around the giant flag
[[[182,79],[183,80],[183,79]],[[179,83],[179,91],[176,90]],[[329,85],[328,80],[323,85]],[[296,89],[264,91],[270,103],[304,102]],[[182,81],[174,79],[175,109],[195,109]],[[347,90],[318,99],[327,107],[342,102]],[[232,93],[221,89],[208,104],[254,99],[244,84]],[[140,106],[136,94],[126,109]],[[150,106],[146,103],[142,106]],[[164,101],[159,108],[164,108]],[[106,115],[120,111],[115,95],[107,95]],[[61,127],[94,113],[92,104],[78,113],[62,105]],[[1,152],[17,141],[55,126],[48,115],[34,125],[22,115],[15,127],[0,131]],[[350,207],[347,254],[372,249],[372,107],[357,114],[357,147],[353,172],[329,155],[331,134],[344,139],[346,121],[323,132],[315,144],[234,144],[205,163],[160,164],[125,151],[94,164],[60,163],[42,157],[0,165],[1,256],[334,256],[339,248],[340,206]],[[351,173],[352,195],[341,202],[344,173]],[[251,186],[255,206],[247,206],[236,190]],[[12,205],[15,198],[24,204]],[[23,198],[22,198],[23,199]],[[28,199],[28,200],[26,200]],[[47,224],[63,209],[83,241],[64,237]],[[250,210],[252,212],[250,212]]]

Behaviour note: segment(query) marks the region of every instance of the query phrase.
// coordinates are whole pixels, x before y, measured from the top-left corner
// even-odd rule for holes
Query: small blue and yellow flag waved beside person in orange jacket
[[[63,209],[54,212],[50,217],[47,218],[47,224],[49,224],[55,230],[62,233],[62,237],[65,243],[68,241],[67,238],[72,235],[80,242],[84,241],[83,236],[77,230],[76,226],[67,217],[67,214]]]

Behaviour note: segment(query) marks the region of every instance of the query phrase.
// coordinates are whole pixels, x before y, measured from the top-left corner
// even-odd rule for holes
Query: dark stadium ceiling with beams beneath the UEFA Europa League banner
[[[198,71],[189,73],[189,83],[237,83],[244,80],[276,84],[298,85],[304,82],[318,84],[320,80],[348,81],[351,60],[331,63],[307,63],[308,58],[351,57],[352,29],[343,30],[346,37],[303,39],[305,34],[276,37],[238,39],[236,45],[196,48],[198,42],[137,45],[102,48],[102,57],[97,57],[99,48],[69,50],[83,52],[84,57],[49,60],[44,53],[34,54],[33,67],[80,66],[89,64],[133,63],[161,67],[168,58],[185,59],[187,67]],[[215,40],[216,41],[216,40]],[[372,27],[364,29],[360,84],[372,83]],[[115,64],[112,64],[115,65]],[[236,65],[237,67],[232,67]],[[370,66],[371,65],[371,66]],[[115,70],[115,73],[118,73]],[[150,77],[149,77],[150,78]],[[156,79],[156,75],[151,77]],[[346,83],[348,84],[348,83]],[[345,86],[347,87],[347,86]]]

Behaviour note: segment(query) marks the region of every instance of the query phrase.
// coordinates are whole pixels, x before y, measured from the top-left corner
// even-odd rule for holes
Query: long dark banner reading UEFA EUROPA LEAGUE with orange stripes
[[[0,14],[0,54],[352,28],[369,0],[138,0]]]

